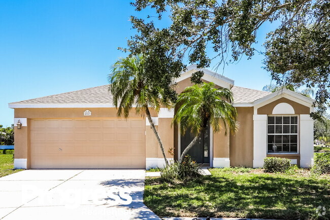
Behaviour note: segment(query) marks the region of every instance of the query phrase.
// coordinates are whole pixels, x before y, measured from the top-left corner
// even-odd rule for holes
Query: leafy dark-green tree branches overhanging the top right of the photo
[[[145,54],[145,73],[152,83],[166,88],[165,95],[175,98],[169,80],[180,75],[186,57],[197,67],[238,61],[241,55],[253,56],[256,34],[265,22],[277,22],[265,43],[265,68],[280,85],[305,85],[317,88],[317,118],[329,102],[330,4],[326,0],[136,0],[137,11],[151,7],[158,19],[170,16],[168,27],[158,28],[149,21],[131,17],[138,34],[124,49]],[[210,54],[207,48],[212,48]],[[215,52],[215,53],[214,53]],[[227,53],[231,59],[226,60]],[[192,75],[200,83],[203,72]]]

